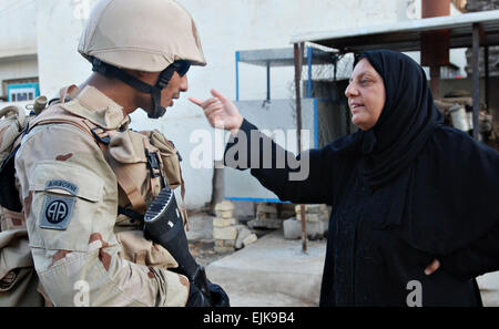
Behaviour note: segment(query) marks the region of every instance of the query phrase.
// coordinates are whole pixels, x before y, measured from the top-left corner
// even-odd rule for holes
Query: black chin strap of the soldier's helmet
[[[132,86],[136,91],[151,94],[153,107],[152,110],[146,111],[149,117],[159,119],[166,112],[166,109],[161,105],[161,92],[169,84],[170,79],[172,79],[173,72],[175,71],[174,65],[167,66],[160,73],[160,78],[157,79],[155,85],[145,83],[136,79],[135,76],[130,75],[123,70],[114,65],[104,63],[95,58],[93,58],[92,60],[92,71],[99,72],[110,78],[116,78],[128,85]]]

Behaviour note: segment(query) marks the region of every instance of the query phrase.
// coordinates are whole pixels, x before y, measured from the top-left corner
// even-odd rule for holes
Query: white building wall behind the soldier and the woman
[[[2,0],[0,6],[0,14],[4,7],[3,1],[6,0]],[[50,97],[63,85],[84,81],[91,66],[78,54],[77,45],[95,0],[21,0],[18,1],[19,4],[16,4],[14,0],[8,1],[7,6],[21,6],[26,2],[27,8],[31,10],[28,16],[31,29],[23,31],[34,29],[35,35],[24,38],[22,32],[16,40],[24,40],[24,43],[19,43],[19,48],[24,47],[23,44],[37,44],[41,93]],[[193,68],[189,74],[187,94],[198,97],[210,96],[211,88],[235,97],[237,50],[291,47],[291,35],[298,32],[346,29],[407,19],[410,4],[407,0],[216,0],[203,1],[202,4],[198,0],[179,2],[196,21],[208,62],[206,68]],[[17,18],[18,21],[22,19]],[[240,65],[242,100],[265,99],[265,69]],[[273,99],[292,97],[293,79],[292,68],[273,69]],[[184,95],[157,121],[151,121],[138,111],[132,114],[132,126],[157,127],[174,141],[185,158],[183,173],[187,187],[187,206],[198,207],[211,199],[213,169],[195,168],[189,163],[189,155],[197,145],[191,140],[192,131],[207,130],[213,136],[214,133],[200,109],[186,99]],[[221,148],[222,145],[214,147]]]

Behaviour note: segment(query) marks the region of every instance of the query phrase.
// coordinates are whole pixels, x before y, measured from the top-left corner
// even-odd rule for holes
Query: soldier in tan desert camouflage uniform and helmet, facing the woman
[[[55,306],[211,306],[141,230],[166,183],[183,189],[177,152],[157,131],[129,130],[130,113],[162,116],[187,91],[190,65],[206,64],[193,19],[172,0],[101,0],[79,52],[94,72],[30,122],[16,157],[43,296]]]

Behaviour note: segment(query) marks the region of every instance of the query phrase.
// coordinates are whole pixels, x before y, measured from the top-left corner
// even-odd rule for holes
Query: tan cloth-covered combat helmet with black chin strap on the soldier
[[[173,0],[100,0],[81,34],[78,51],[93,71],[152,95],[149,117],[162,116],[161,91],[174,72],[206,65],[191,14]],[[122,69],[161,72],[153,86]]]

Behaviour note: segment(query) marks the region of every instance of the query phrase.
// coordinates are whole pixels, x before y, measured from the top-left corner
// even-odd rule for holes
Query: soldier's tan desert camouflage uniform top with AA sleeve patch
[[[143,212],[161,191],[145,150],[160,152],[153,144],[161,144],[167,153],[160,158],[163,174],[162,160],[176,156],[159,143],[166,141],[159,132],[132,132],[129,121],[120,105],[86,86],[33,120],[17,154],[29,247],[40,290],[54,306],[187,301],[189,280],[169,270],[175,259],[143,237],[141,223],[118,215],[119,205]],[[109,136],[109,145],[96,143],[92,131]]]

